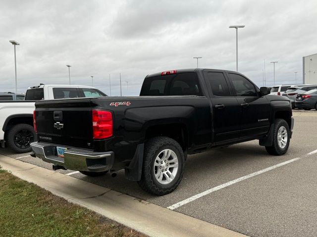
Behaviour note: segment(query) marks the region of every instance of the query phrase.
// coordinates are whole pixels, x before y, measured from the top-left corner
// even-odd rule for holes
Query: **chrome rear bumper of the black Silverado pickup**
[[[58,145],[33,142],[32,150],[36,157],[55,165],[72,170],[102,172],[111,169],[114,161],[113,152],[92,152],[89,150],[67,147],[64,157],[57,157]]]

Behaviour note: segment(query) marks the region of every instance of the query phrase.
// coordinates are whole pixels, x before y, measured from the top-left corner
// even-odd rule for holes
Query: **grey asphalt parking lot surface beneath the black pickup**
[[[248,236],[316,236],[317,112],[296,111],[294,118],[293,137],[286,155],[270,156],[258,141],[251,141],[189,156],[180,186],[163,197],[145,193],[136,182],[124,178],[124,171],[115,178],[108,174],[92,178],[72,170],[56,172]],[[9,149],[0,149],[0,153],[52,169],[52,165],[28,154],[14,154]],[[244,178],[237,182],[241,177]],[[212,189],[215,187],[218,188]],[[184,202],[193,196],[198,198]],[[176,203],[179,204],[175,208]]]

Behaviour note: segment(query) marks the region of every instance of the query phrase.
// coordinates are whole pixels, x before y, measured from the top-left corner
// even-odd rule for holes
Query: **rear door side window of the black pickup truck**
[[[207,73],[207,80],[211,86],[212,94],[215,96],[230,96],[227,81],[220,72]]]

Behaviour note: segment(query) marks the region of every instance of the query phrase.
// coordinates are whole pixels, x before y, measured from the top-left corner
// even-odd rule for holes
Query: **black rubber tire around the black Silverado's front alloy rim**
[[[288,150],[291,133],[290,133],[288,124],[284,119],[281,119],[281,118],[275,119],[273,126],[274,126],[273,144],[272,144],[272,146],[265,147],[265,149],[268,152],[268,154],[270,154],[270,155],[281,156],[281,155],[284,155]],[[283,145],[280,146],[278,143],[278,131],[281,127],[284,127],[286,129],[286,133],[287,133],[287,141],[286,141],[285,147],[281,147]],[[284,136],[284,138],[285,138],[285,136]]]

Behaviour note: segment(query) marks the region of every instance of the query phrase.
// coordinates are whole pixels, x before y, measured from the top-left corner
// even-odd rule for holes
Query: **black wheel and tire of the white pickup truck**
[[[32,151],[30,144],[34,141],[36,141],[36,133],[33,126],[29,124],[17,124],[8,131],[8,146],[17,153],[26,153]]]

